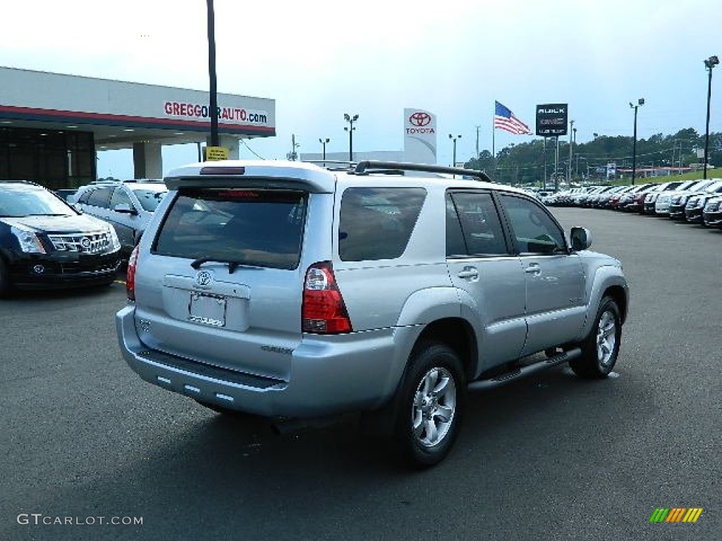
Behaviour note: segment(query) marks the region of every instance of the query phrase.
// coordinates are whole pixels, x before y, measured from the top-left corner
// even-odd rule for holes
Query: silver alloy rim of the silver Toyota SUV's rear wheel
[[[423,447],[443,441],[456,413],[456,382],[445,368],[432,368],[422,377],[412,405],[414,439]]]

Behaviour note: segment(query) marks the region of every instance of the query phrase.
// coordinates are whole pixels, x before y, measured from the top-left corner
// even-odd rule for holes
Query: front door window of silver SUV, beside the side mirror
[[[538,203],[501,195],[504,210],[521,253],[552,254],[566,249],[564,232]]]

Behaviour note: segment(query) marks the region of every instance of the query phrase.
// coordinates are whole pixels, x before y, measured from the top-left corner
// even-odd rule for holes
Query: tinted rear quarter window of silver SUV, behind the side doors
[[[339,258],[399,258],[426,198],[424,188],[349,188],[341,200]]]

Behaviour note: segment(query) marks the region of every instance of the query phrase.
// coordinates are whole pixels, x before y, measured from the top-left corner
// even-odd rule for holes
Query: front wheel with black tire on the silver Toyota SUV
[[[596,312],[591,333],[580,346],[582,354],[569,361],[579,377],[601,379],[609,376],[617,364],[619,344],[622,341],[622,318],[614,299],[604,297]]]

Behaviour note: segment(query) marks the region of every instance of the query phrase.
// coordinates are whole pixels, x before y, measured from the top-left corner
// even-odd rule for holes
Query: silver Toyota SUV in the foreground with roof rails
[[[388,162],[174,170],[129,262],[123,356],[221,412],[362,412],[433,465],[469,390],[567,361],[606,377],[627,314],[622,267],[586,229],[567,239],[536,198],[484,180]]]

